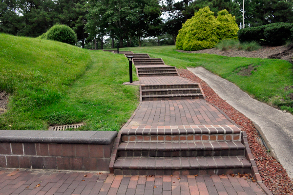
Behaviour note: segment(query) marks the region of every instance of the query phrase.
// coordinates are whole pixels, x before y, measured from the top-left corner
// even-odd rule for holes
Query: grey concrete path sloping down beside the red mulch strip
[[[293,115],[261,103],[229,81],[203,67],[188,68],[232,107],[251,119],[272,155],[293,178]]]

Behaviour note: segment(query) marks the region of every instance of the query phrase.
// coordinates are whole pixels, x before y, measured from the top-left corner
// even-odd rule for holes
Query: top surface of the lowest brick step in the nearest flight
[[[237,169],[251,168],[245,156],[118,157],[114,169]]]

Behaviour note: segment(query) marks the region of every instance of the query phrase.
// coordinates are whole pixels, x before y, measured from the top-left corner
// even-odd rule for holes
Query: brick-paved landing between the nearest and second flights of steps
[[[205,100],[144,101],[124,128],[168,125],[233,125]]]

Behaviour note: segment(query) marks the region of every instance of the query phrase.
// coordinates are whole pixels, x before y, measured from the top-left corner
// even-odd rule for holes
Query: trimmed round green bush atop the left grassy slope
[[[54,40],[74,45],[77,42],[75,32],[66,25],[56,24],[46,32],[47,40]]]

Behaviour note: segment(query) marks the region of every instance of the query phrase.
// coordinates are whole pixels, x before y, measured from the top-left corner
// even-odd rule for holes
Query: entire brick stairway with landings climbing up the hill
[[[204,99],[199,84],[179,77],[176,67],[165,65],[162,59],[152,59],[148,54],[125,53],[125,56],[134,57],[132,61],[140,77],[141,100],[148,105],[157,105],[159,104],[157,102],[162,101],[164,107],[157,107],[155,111],[152,108],[142,108],[137,114],[134,113],[132,119],[129,119],[131,122],[127,122],[128,124],[119,132],[114,144],[109,166],[111,173],[123,175],[251,173],[248,144],[244,145],[241,130],[230,125],[232,123],[219,125],[219,121],[222,121],[224,116],[219,118],[214,112],[207,111],[203,104],[191,102],[203,101],[194,99]],[[186,107],[191,109],[189,112],[180,111],[182,105],[170,100],[185,100],[189,106],[192,104],[196,106]],[[148,103],[151,101],[154,103]],[[174,108],[167,108],[168,105],[169,107],[173,105]],[[146,114],[148,118],[145,118]],[[177,120],[177,117],[182,117],[182,120]],[[194,120],[201,122],[209,121],[210,125],[146,126],[154,121],[159,124],[178,124],[185,121],[188,124],[194,117],[196,118]],[[212,119],[213,117],[219,121]],[[171,118],[173,121],[170,121]],[[142,122],[138,123],[138,121]],[[201,122],[199,124],[202,124]],[[145,125],[141,125],[142,123]]]

